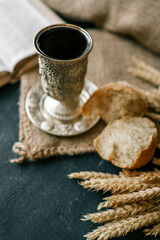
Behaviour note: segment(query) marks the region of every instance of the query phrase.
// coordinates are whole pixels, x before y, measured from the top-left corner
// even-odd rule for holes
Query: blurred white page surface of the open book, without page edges
[[[0,58],[9,72],[19,61],[36,53],[33,39],[41,28],[62,22],[56,14],[53,20],[42,9],[33,0],[0,0]]]

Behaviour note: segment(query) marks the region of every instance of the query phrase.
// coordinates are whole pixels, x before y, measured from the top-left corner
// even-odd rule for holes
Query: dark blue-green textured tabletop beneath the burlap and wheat
[[[96,153],[11,164],[12,145],[18,140],[19,87],[18,83],[0,89],[0,240],[84,239],[97,225],[80,218],[96,211],[102,193],[83,189],[67,175],[119,169]],[[139,230],[115,239],[160,238],[145,238]]]

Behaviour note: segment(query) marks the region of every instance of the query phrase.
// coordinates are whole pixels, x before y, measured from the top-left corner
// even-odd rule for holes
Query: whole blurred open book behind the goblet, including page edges
[[[63,20],[40,0],[0,0],[0,87],[37,66],[36,33]]]

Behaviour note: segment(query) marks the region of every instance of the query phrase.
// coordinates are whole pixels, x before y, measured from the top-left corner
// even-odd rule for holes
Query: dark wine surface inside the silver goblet
[[[42,54],[57,60],[71,60],[83,55],[88,42],[82,32],[58,27],[43,32],[37,43]]]

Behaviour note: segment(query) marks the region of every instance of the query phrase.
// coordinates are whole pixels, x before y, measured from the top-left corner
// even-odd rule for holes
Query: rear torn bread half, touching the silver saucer
[[[95,91],[82,107],[82,114],[91,113],[110,122],[124,116],[143,116],[147,101],[142,93],[126,82],[109,83]]]

